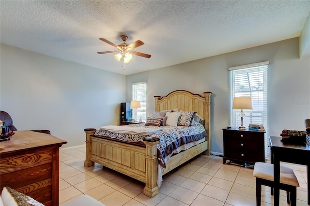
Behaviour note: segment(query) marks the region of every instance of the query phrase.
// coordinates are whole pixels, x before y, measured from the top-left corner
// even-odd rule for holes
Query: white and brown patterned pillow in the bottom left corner
[[[42,203],[9,187],[4,187],[1,193],[4,206],[44,206]]]

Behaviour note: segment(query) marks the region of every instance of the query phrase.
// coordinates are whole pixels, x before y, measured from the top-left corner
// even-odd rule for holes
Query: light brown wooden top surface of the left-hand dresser
[[[32,131],[15,131],[10,140],[0,142],[0,154],[4,155],[17,150],[29,150],[47,146],[61,147],[67,141],[59,139],[53,135],[32,132]],[[4,146],[4,147],[3,147]]]

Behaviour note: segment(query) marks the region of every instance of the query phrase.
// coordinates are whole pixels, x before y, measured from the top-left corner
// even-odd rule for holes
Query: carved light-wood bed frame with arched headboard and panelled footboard
[[[166,168],[161,170],[162,175],[204,152],[210,155],[211,126],[210,106],[211,92],[204,92],[204,96],[193,94],[185,90],[176,90],[165,97],[155,96],[155,111],[178,108],[183,111],[195,111],[204,118],[204,128],[207,133],[205,142],[182,151],[166,162]],[[86,167],[93,166],[94,162],[102,164],[126,176],[145,183],[143,193],[154,197],[159,192],[157,178],[157,147],[158,138],[144,138],[146,147],[126,144],[124,142],[105,139],[94,135],[95,129],[88,128],[86,132]]]

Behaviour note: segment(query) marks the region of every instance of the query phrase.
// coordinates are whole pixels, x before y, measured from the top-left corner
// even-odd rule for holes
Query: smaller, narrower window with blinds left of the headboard
[[[132,100],[140,101],[141,108],[132,110],[132,118],[146,120],[146,83],[136,83],[131,86]]]

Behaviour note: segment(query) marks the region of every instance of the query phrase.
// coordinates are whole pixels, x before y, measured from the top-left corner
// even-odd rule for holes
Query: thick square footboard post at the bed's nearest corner
[[[159,138],[144,138],[143,142],[146,145],[145,187],[143,194],[153,198],[159,193],[157,186],[157,144],[159,143]]]

